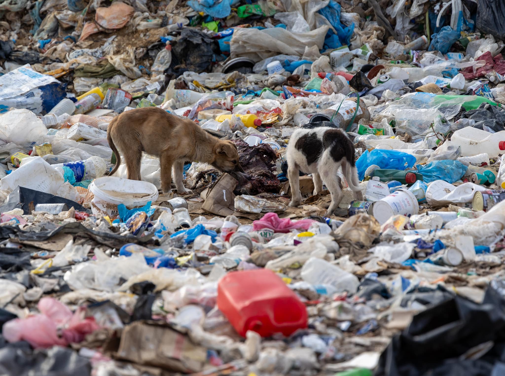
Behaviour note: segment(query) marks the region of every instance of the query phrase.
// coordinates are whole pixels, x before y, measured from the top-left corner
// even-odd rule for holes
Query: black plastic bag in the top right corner
[[[477,28],[505,39],[505,0],[477,0]]]

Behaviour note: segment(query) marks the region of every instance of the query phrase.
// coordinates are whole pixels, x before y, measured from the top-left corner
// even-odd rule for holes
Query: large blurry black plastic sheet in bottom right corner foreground
[[[489,287],[482,304],[455,296],[418,313],[393,337],[374,376],[491,374],[505,356],[504,307],[503,297]],[[488,341],[491,348],[480,359],[462,357]]]

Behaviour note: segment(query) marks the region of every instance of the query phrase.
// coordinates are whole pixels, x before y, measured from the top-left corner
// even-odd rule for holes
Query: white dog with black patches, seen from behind
[[[333,214],[343,197],[337,175],[340,166],[355,200],[363,201],[364,189],[360,187],[358,179],[354,145],[342,130],[331,127],[296,130],[289,139],[286,159],[292,195],[289,206],[301,203],[298,178],[298,170],[301,170],[312,174],[314,195],[322,192],[324,181],[331,194],[326,215]]]

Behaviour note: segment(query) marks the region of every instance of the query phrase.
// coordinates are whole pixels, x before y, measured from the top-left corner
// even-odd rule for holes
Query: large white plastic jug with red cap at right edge
[[[454,132],[450,140],[461,146],[463,157],[482,153],[487,153],[490,157],[505,154],[505,130],[489,133],[482,129],[466,127]]]

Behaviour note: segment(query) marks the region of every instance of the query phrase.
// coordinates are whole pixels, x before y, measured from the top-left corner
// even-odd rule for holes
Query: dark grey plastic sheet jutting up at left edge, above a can
[[[35,205],[37,204],[67,204],[69,208],[73,206],[77,211],[91,214],[89,209],[86,209],[75,201],[67,200],[49,193],[31,190],[23,186],[18,186],[11,192],[7,198],[7,202],[0,206],[0,212],[5,213],[13,209],[23,209],[23,214],[31,214],[31,212],[35,210]]]

